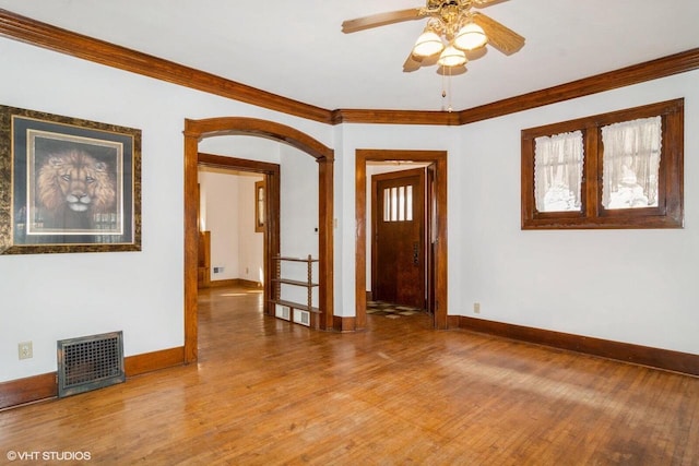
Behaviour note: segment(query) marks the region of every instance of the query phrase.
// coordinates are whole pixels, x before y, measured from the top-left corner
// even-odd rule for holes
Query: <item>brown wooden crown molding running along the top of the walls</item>
[[[461,111],[328,110],[0,9],[0,36],[327,124],[463,126],[699,69],[699,48]]]

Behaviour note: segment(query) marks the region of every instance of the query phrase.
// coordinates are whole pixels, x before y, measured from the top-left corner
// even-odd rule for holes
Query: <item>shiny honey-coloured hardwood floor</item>
[[[201,292],[197,365],[0,413],[0,464],[699,465],[697,378],[426,314],[337,334],[260,309]]]

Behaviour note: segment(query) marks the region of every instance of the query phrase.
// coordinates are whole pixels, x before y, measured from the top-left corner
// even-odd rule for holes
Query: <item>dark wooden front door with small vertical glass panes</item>
[[[372,296],[425,309],[425,169],[371,178]]]

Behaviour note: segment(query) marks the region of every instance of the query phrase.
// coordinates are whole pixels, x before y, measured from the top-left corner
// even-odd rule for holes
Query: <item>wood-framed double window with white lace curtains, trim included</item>
[[[682,228],[684,100],[522,131],[522,228]]]

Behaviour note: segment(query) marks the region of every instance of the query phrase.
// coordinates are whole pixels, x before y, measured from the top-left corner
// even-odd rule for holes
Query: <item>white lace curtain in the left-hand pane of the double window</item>
[[[538,212],[580,210],[583,158],[582,131],[536,138],[534,195]]]

